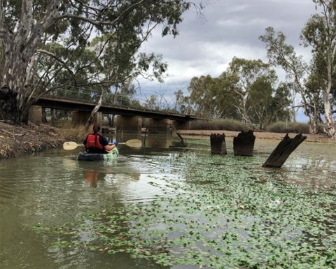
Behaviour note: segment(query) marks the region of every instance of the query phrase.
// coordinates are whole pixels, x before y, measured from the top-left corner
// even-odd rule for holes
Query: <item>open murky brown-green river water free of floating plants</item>
[[[228,156],[219,158],[233,159],[232,140],[229,138],[227,143]],[[255,154],[248,159],[253,161],[241,161],[241,164],[256,169],[257,173],[272,174],[272,169],[261,166],[278,143],[256,141]],[[79,150],[57,150],[0,161],[0,268],[167,268],[125,253],[109,255],[71,249],[59,252],[50,247],[50,243],[57,240],[56,235],[54,238],[36,233],[33,227],[59,227],[111,205],[148,203],[155,197],[165,196],[167,180],[184,182],[188,177],[181,173],[179,161],[169,163],[168,160],[183,156],[211,158],[209,141],[192,143],[188,149],[134,150],[121,146],[118,159],[109,163],[78,162]],[[293,184],[318,182],[316,188],[335,188],[335,153],[335,144],[302,143],[276,173],[289,174],[286,180],[293,180]]]

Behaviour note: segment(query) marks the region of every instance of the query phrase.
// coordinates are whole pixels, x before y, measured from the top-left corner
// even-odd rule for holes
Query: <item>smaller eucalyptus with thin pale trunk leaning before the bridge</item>
[[[127,27],[129,27],[127,25]],[[97,36],[90,42],[90,49],[97,53],[98,61],[96,75],[94,78],[100,85],[99,99],[97,105],[91,112],[85,126],[88,128],[94,119],[94,115],[102,106],[102,102],[108,101],[106,94],[113,96],[111,103],[124,103],[131,91],[125,90],[130,87],[130,82],[139,75],[144,75],[148,71],[149,66],[153,66],[153,73],[147,74],[146,79],[153,80],[154,78],[162,82],[162,73],[167,70],[167,64],[162,63],[161,55],[154,53],[137,54],[141,44],[146,41],[146,38],[138,38],[137,33],[127,31],[127,27],[118,34],[104,34]],[[137,42],[135,42],[137,40]],[[126,85],[128,85],[126,87]],[[122,92],[123,89],[123,92]],[[133,87],[134,89],[134,87]],[[132,92],[134,94],[134,92]],[[117,100],[118,97],[118,100]],[[130,104],[130,102],[128,102]]]

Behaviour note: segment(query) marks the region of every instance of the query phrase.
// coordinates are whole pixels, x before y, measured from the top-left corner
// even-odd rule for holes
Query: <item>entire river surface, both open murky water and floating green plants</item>
[[[335,144],[269,169],[279,141],[253,157],[188,143],[0,161],[0,268],[336,268]]]

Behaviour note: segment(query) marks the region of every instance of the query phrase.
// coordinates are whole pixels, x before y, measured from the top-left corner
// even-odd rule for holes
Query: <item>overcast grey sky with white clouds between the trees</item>
[[[194,0],[200,3],[199,0]],[[282,31],[287,43],[297,54],[309,57],[309,50],[300,47],[300,31],[316,13],[312,0],[210,0],[204,17],[194,8],[183,15],[179,36],[160,36],[157,29],[143,51],[162,54],[169,65],[165,83],[140,80],[141,96],[172,96],[182,89],[185,94],[190,80],[201,75],[218,77],[228,68],[233,57],[267,61],[265,44],[259,36],[267,27]],[[141,97],[140,97],[141,98]]]

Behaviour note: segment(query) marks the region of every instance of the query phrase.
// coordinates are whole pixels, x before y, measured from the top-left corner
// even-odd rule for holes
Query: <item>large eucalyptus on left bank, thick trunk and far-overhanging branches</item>
[[[76,81],[78,70],[68,66],[69,61],[77,52],[85,51],[94,36],[109,36],[114,51],[118,52],[123,48],[125,38],[127,44],[133,45],[127,47],[130,50],[127,61],[115,58],[120,64],[117,70],[123,74],[120,76],[129,75],[130,70],[146,75],[153,68],[154,76],[160,77],[165,68],[153,55],[141,54],[137,64],[129,56],[137,54],[141,44],[159,25],[162,25],[162,36],[179,34],[177,26],[182,21],[181,15],[192,5],[185,0],[0,0],[0,47],[3,49],[0,97],[4,100],[0,106],[0,119],[27,123],[29,106],[45,92],[64,86],[55,83],[61,71],[67,71]],[[48,51],[50,43],[62,45],[62,54],[56,50]],[[102,53],[97,54],[102,56]],[[48,56],[44,58],[44,66],[58,63],[52,66],[55,71],[49,73],[48,78],[39,73],[42,55]],[[53,59],[51,63],[50,59]],[[80,71],[87,71],[92,64],[98,66],[92,61],[80,66]],[[90,83],[102,82],[100,74],[90,74]],[[120,77],[113,80],[120,80]],[[73,85],[77,86],[76,83]]]

